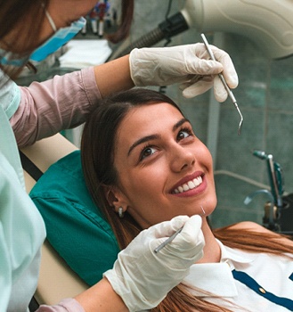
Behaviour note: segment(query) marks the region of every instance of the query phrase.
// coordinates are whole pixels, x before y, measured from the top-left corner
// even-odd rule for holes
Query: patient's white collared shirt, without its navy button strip
[[[232,311],[293,311],[293,308],[283,308],[263,297],[264,292],[271,292],[277,297],[293,300],[293,259],[233,250],[222,242],[219,245],[222,251],[220,263],[193,265],[184,282],[229,300],[232,304],[200,291],[194,291],[195,295],[219,306],[231,308]],[[260,285],[259,291],[253,291],[244,283],[235,280],[232,275],[234,269],[252,277]]]

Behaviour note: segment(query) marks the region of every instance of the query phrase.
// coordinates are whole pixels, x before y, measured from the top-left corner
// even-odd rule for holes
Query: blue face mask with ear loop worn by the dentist
[[[20,57],[15,53],[7,52],[0,48],[0,64],[1,65],[12,65],[12,66],[23,66],[28,60],[41,62],[45,58],[57,51],[62,45],[65,45],[77,35],[78,31],[85,26],[85,18],[81,17],[78,21],[74,21],[69,27],[62,29],[56,29],[53,20],[48,12],[45,12],[46,16],[55,31],[52,37],[50,37],[43,45],[39,46],[29,57]]]

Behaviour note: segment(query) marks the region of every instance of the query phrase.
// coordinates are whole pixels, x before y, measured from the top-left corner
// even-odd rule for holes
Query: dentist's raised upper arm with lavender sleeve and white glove
[[[133,86],[180,83],[186,97],[214,86],[216,99],[224,102],[227,92],[217,74],[222,72],[231,88],[238,85],[238,77],[229,54],[211,48],[217,61],[209,59],[203,44],[134,49],[94,68],[20,87],[20,104],[10,120],[17,142],[23,147],[76,127],[85,122],[97,98]]]

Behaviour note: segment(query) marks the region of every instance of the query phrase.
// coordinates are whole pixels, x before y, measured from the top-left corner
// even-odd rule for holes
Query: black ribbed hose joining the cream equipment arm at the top
[[[187,22],[185,21],[183,14],[177,12],[172,15],[170,18],[167,18],[165,21],[161,22],[156,29],[152,29],[149,33],[138,38],[131,45],[126,46],[124,50],[115,55],[115,57],[110,57],[110,59],[117,59],[118,57],[124,56],[130,53],[134,48],[141,47],[150,47],[156,45],[159,41],[163,39],[169,40],[171,37],[178,35],[189,29]]]

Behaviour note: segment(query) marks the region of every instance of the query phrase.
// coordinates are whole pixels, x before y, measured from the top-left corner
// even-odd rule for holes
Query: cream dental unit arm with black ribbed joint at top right
[[[293,54],[293,1],[291,0],[186,0],[183,9],[159,24],[110,59],[169,39],[186,29],[222,31],[252,40],[272,59]]]

